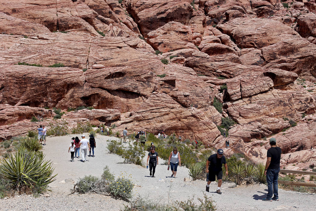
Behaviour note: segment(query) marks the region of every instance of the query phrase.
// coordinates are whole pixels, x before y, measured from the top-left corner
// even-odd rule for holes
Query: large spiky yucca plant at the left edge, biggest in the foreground
[[[44,161],[35,152],[26,152],[20,149],[10,158],[4,159],[0,165],[3,178],[9,179],[10,183],[17,188],[21,195],[23,187],[41,186],[43,190],[47,185],[55,181],[56,175],[52,176],[54,168],[51,161]]]

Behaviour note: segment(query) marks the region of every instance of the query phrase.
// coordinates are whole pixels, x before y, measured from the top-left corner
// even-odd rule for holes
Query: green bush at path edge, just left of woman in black
[[[124,158],[125,162],[142,165],[143,158],[145,157],[143,150],[143,146],[140,143],[129,143],[128,148],[120,156]]]

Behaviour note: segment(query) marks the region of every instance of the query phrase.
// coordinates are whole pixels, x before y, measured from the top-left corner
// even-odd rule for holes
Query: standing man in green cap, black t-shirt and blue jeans
[[[268,194],[267,197],[262,199],[263,201],[279,201],[278,195],[278,182],[280,171],[280,159],[281,159],[281,148],[276,146],[276,139],[270,138],[270,146],[267,152],[267,162],[265,164],[264,175],[266,175],[268,183]],[[272,198],[272,194],[274,197]]]

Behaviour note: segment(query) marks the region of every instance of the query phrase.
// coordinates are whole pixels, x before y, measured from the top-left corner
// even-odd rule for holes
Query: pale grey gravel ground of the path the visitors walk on
[[[184,201],[192,197],[197,201],[197,198],[202,198],[203,193],[206,193],[215,201],[218,210],[316,210],[316,195],[283,189],[279,189],[280,201],[264,202],[261,199],[266,196],[267,187],[262,184],[231,188],[233,183],[223,183],[222,195],[219,195],[215,192],[217,183],[212,182],[210,193],[207,193],[206,181],[184,182],[184,178],[189,177],[185,167],[178,167],[177,178],[170,177],[171,171],[167,171],[167,166],[162,165],[162,159],[156,167],[156,177],[152,178],[145,167],[125,164],[119,156],[108,153],[106,140],[116,139],[114,137],[98,135],[95,157],[87,157],[84,163],[81,158],[75,158],[75,161],[71,162],[68,148],[73,136],[80,135],[49,137],[46,140],[47,145],[43,146],[46,159],[52,160],[54,173],[58,174],[56,181],[50,185],[52,192],[38,198],[22,195],[0,200],[1,210],[119,210],[126,202],[110,196],[77,193],[67,196],[78,178],[89,174],[100,176],[105,165],[108,165],[116,176],[121,173],[131,176],[136,184],[134,197],[141,195],[153,202],[171,204],[176,200]],[[88,137],[87,134],[86,136]],[[144,163],[146,159],[147,156]]]

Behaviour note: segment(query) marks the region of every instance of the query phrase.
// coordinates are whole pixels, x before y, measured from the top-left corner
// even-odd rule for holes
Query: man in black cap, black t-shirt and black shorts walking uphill
[[[226,170],[226,176],[228,175],[228,167],[226,163],[226,158],[223,156],[223,150],[218,149],[217,153],[214,155],[211,155],[209,159],[206,161],[206,173],[209,173],[209,178],[206,185],[206,191],[210,192],[210,183],[215,181],[215,175],[218,180],[217,190],[216,193],[222,194],[221,192],[221,185],[222,185],[222,177],[223,177],[223,171],[222,171],[222,164],[225,166]]]

